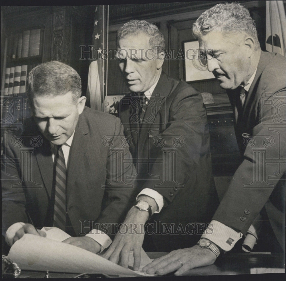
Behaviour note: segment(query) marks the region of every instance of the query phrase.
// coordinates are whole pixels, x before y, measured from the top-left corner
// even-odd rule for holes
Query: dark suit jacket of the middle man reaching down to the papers
[[[152,216],[154,226],[149,224],[146,235],[154,231],[151,237],[161,252],[193,246],[218,206],[202,96],[186,82],[162,73],[141,128],[136,99],[136,93],[126,95],[118,109],[137,168],[138,191],[156,190],[165,202]],[[173,234],[162,224],[174,227]]]

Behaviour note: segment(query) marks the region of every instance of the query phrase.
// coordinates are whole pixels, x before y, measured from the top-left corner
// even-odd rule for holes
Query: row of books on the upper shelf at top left
[[[11,34],[9,37],[10,59],[20,59],[40,54],[41,29],[25,30],[22,33]]]

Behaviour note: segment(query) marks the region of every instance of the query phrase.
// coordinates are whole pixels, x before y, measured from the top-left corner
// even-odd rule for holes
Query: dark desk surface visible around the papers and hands
[[[166,253],[147,253],[151,259],[159,258]],[[285,269],[284,254],[270,253],[227,253],[220,256],[215,264],[194,268],[185,275],[228,275],[228,274],[250,274],[251,268],[283,268]],[[269,272],[270,273],[270,272]],[[73,278],[78,274],[49,272],[50,278]],[[32,272],[22,270],[20,278],[44,278],[45,272]]]

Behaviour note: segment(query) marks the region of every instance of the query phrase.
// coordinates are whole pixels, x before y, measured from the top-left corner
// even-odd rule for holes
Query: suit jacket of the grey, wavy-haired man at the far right
[[[262,52],[239,115],[237,91],[229,92],[235,133],[243,162],[214,215],[246,234],[263,206],[279,244],[285,249],[285,83],[286,59]],[[245,210],[249,214],[245,214]],[[248,213],[248,212],[246,212]]]

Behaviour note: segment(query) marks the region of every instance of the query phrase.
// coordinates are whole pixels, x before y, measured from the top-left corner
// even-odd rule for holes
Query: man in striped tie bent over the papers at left
[[[80,76],[57,61],[29,73],[28,95],[33,117],[3,143],[5,240],[11,246],[25,233],[45,236],[35,228],[57,226],[73,236],[65,243],[98,253],[130,208],[135,170],[123,126],[85,107]]]

